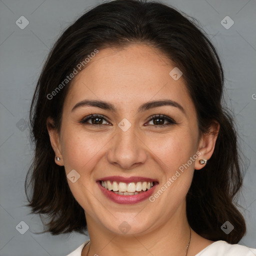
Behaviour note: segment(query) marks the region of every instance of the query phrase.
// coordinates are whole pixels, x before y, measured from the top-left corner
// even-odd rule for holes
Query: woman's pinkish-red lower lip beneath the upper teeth
[[[121,194],[116,194],[113,191],[109,191],[108,189],[104,188],[103,186],[101,186],[100,181],[97,181],[97,183],[98,183],[100,190],[103,192],[103,194],[107,198],[109,198],[110,200],[112,200],[116,203],[119,203],[119,204],[134,204],[134,203],[141,202],[141,201],[145,200],[146,198],[148,198],[153,193],[153,190],[156,186],[156,184],[155,184],[147,191],[144,191],[144,192],[141,192],[138,194],[121,195]]]

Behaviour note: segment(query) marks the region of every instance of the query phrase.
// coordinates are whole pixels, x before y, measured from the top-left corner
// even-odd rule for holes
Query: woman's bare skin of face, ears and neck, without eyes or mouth
[[[189,239],[185,196],[194,169],[203,171],[198,160],[209,159],[213,153],[219,125],[213,123],[211,133],[200,136],[182,76],[175,81],[169,75],[173,67],[157,49],[143,44],[100,50],[72,81],[60,133],[49,125],[52,120],[48,118],[52,148],[60,157],[56,164],[64,165],[66,174],[75,169],[80,175],[74,183],[67,181],[87,221],[90,248],[85,246],[82,255],[185,254]],[[117,110],[81,106],[72,111],[84,99],[104,100]],[[169,105],[138,112],[141,104],[159,99],[176,101],[184,112]],[[91,119],[79,122],[90,114],[107,119],[100,125],[89,124]],[[154,114],[164,114],[176,123],[162,126],[161,121],[168,121],[161,119],[155,124],[149,121]],[[127,131],[118,127],[123,118],[131,124]],[[160,188],[197,151],[201,155],[154,202],[118,204],[106,198],[96,183],[110,175],[144,176],[157,180]],[[126,234],[118,228],[123,221],[130,226]],[[211,243],[192,230],[187,255],[195,255]]]

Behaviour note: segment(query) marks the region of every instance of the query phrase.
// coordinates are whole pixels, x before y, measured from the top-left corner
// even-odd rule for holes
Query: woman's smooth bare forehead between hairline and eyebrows
[[[169,75],[174,67],[160,51],[147,45],[99,50],[73,79],[65,105],[70,108],[87,98],[119,106],[169,98],[191,107],[182,76],[174,80]]]

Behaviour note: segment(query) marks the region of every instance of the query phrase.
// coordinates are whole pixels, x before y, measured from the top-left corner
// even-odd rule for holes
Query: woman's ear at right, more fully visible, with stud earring
[[[209,131],[207,133],[201,134],[198,148],[197,148],[197,150],[201,154],[194,165],[194,168],[196,170],[199,170],[205,166],[205,163],[204,164],[199,163],[200,159],[208,160],[211,157],[215,147],[215,142],[218,136],[218,131],[219,131],[219,123],[217,121],[213,121],[209,127]]]

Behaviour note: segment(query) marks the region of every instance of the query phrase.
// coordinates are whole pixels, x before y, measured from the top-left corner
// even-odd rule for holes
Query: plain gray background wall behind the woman
[[[86,236],[34,234],[42,228],[29,214],[24,179],[32,149],[28,139],[28,109],[42,63],[60,31],[98,0],[0,0],[0,255],[63,255]],[[216,46],[225,72],[225,98],[233,110],[241,148],[247,157],[241,209],[247,234],[239,242],[256,247],[256,1],[166,0],[197,18]],[[230,20],[221,20],[225,16]],[[29,24],[15,21],[25,16]],[[22,22],[24,25],[24,20]],[[25,224],[29,229],[25,231]],[[17,228],[15,228],[17,226]],[[19,228],[18,228],[19,227]]]

